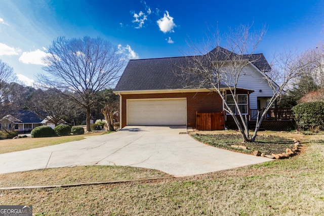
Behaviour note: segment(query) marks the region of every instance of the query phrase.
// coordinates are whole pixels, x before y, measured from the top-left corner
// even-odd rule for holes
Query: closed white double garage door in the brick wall
[[[128,125],[186,125],[187,101],[181,99],[127,100]]]

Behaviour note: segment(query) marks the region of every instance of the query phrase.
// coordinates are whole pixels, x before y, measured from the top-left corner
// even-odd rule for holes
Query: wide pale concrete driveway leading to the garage
[[[127,126],[119,132],[82,141],[0,154],[0,173],[77,165],[121,165],[158,169],[181,177],[271,160],[207,146],[181,132],[186,132],[186,127]]]

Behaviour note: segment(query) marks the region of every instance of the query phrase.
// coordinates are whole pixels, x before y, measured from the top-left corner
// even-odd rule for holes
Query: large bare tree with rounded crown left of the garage
[[[39,75],[39,81],[86,109],[87,131],[91,131],[95,95],[115,84],[124,65],[117,48],[100,37],[58,37],[48,49],[44,63],[47,74]]]

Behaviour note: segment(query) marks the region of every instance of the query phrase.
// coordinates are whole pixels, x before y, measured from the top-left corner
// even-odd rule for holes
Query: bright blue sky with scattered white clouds
[[[100,36],[130,59],[174,57],[209,26],[226,33],[252,23],[267,27],[256,52],[268,61],[285,49],[314,48],[324,39],[324,1],[0,0],[0,59],[30,84],[58,36]]]

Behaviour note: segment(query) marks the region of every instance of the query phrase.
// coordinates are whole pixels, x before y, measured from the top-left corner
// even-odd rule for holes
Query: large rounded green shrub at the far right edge
[[[324,102],[306,102],[292,108],[297,128],[318,133],[324,124]]]

